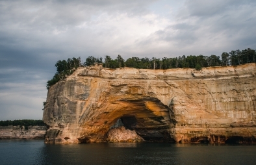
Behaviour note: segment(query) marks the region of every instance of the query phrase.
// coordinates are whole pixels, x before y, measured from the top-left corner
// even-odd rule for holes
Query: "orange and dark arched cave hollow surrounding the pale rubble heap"
[[[146,141],[174,142],[170,136],[172,128],[170,108],[162,104],[159,99],[150,97],[133,100],[119,99],[114,104],[114,109],[106,108],[90,123],[84,123],[87,129],[79,138],[80,142],[105,141],[106,133],[118,120],[122,120],[125,128],[136,131]],[[94,131],[97,132],[96,136],[94,131],[89,133],[88,125],[93,125]]]

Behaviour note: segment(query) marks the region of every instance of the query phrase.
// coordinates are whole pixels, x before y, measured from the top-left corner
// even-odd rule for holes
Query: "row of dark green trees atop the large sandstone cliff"
[[[50,88],[56,82],[65,79],[68,75],[73,73],[73,68],[79,66],[90,66],[94,63],[103,63],[104,68],[142,68],[149,70],[166,70],[171,68],[195,68],[196,70],[201,70],[202,67],[209,66],[236,66],[240,64],[246,64],[255,62],[256,53],[254,49],[244,49],[240,51],[231,51],[229,53],[222,53],[221,57],[216,55],[203,56],[203,55],[189,55],[174,58],[138,58],[131,57],[124,60],[120,55],[115,59],[110,56],[105,56],[103,58],[88,57],[84,63],[81,62],[81,58],[68,58],[68,60],[58,60],[55,66],[57,67],[57,73],[53,76],[53,79],[47,81],[47,89]]]

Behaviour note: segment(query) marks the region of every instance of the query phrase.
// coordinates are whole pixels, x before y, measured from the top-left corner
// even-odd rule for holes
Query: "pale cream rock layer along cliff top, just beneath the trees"
[[[81,67],[67,79],[76,79],[79,76],[101,77],[107,79],[195,79],[224,77],[253,77],[256,73],[256,64],[243,64],[240,66],[214,66],[202,68],[197,71],[192,68],[173,68],[168,70],[148,70],[136,68],[103,68],[102,64]]]

